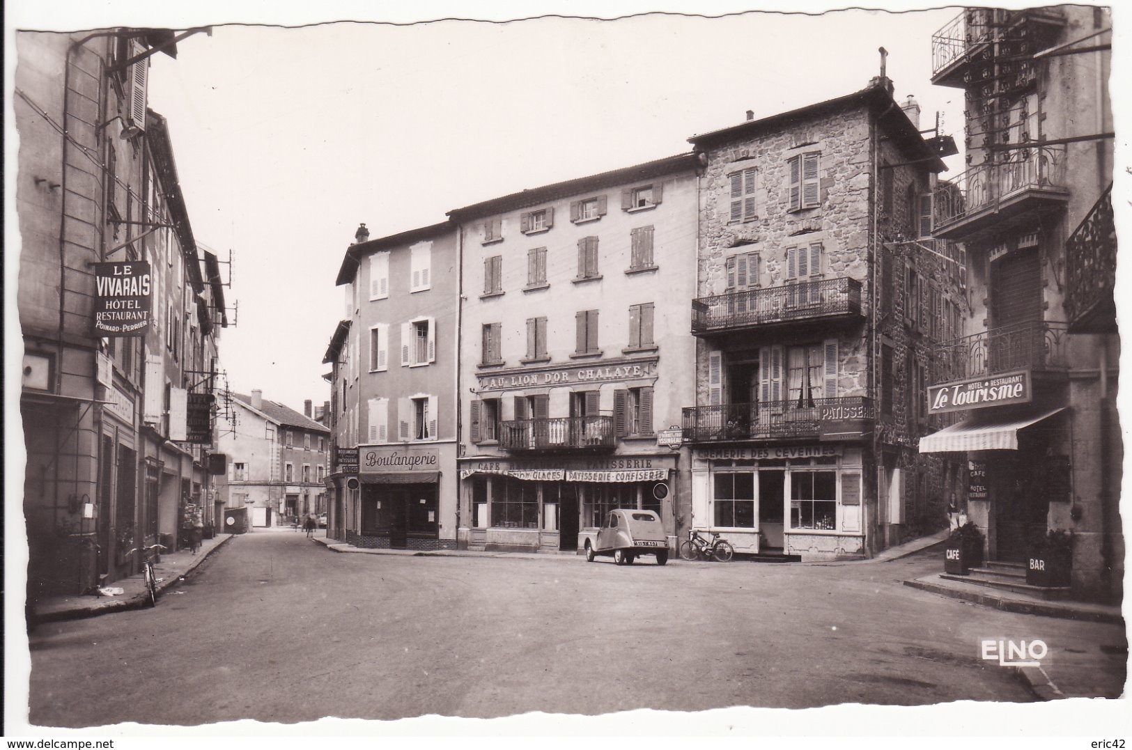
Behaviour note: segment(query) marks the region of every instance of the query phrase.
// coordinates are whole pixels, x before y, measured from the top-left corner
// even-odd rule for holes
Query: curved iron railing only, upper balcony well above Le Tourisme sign
[[[1041,146],[1009,152],[1010,161],[980,164],[935,188],[935,226],[961,222],[979,212],[997,209],[1027,190],[1064,192],[1065,147]]]

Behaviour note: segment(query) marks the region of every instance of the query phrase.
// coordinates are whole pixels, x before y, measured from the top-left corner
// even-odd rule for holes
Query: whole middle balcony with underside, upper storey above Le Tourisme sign
[[[1063,209],[1065,146],[1018,148],[1003,162],[980,164],[944,182],[934,191],[933,234],[944,240],[971,240],[1009,229],[1032,212]]]

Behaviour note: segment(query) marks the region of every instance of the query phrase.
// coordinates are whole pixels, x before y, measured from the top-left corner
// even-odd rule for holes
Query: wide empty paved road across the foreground
[[[33,724],[1027,701],[983,637],[1118,628],[901,586],[936,555],[856,566],[337,554],[232,540],[155,610],[41,626]]]

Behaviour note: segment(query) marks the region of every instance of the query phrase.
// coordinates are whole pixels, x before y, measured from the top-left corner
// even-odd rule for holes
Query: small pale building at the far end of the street
[[[247,508],[251,526],[277,526],[326,511],[331,431],[305,412],[264,398],[230,394],[231,415],[218,422],[228,472],[220,485],[225,508]]]

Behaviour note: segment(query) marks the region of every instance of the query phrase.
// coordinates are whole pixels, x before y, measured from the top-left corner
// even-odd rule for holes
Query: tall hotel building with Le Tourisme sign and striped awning
[[[920,441],[969,464],[992,583],[1067,533],[1060,587],[1100,598],[1124,560],[1110,37],[1107,9],[1056,6],[969,8],[932,40],[933,83],[967,102],[968,169],[937,186],[935,225],[967,245],[971,309],[926,404],[964,419]]]

